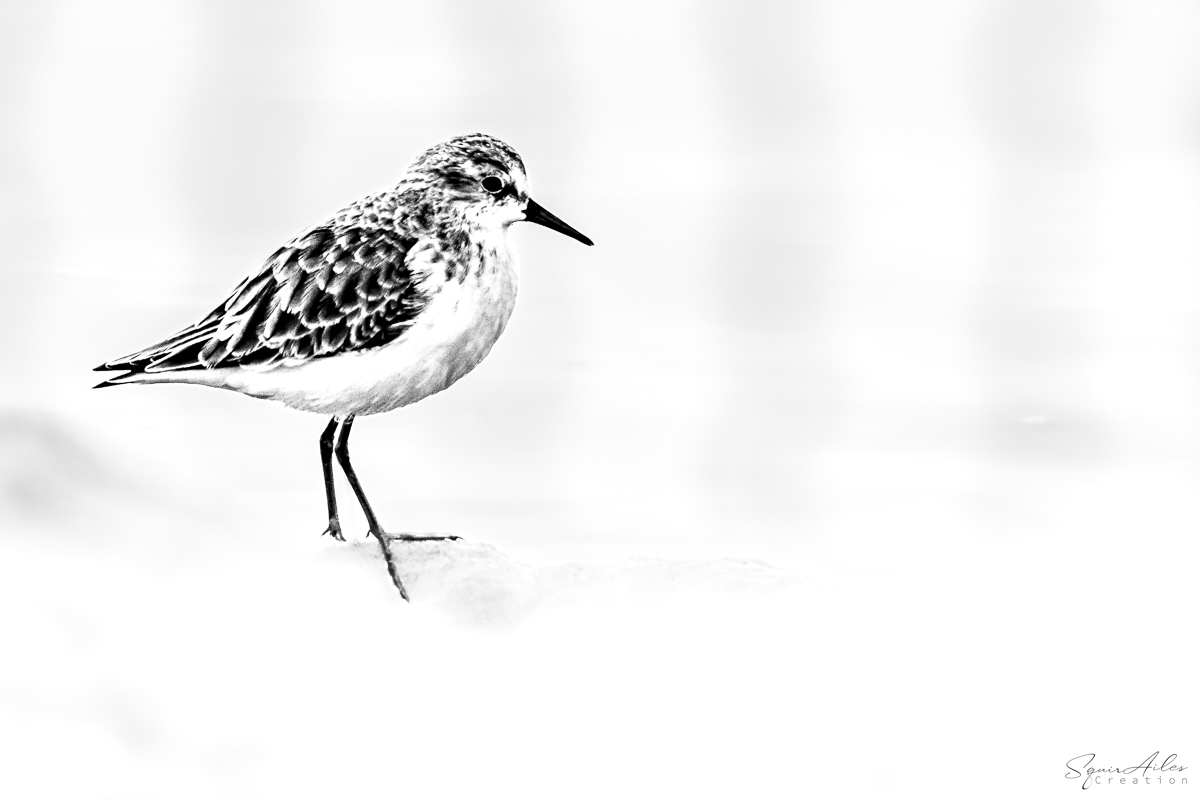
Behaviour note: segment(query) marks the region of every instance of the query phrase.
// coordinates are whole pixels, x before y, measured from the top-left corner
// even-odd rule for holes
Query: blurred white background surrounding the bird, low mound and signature
[[[1194,765],[1196,42],[1165,0],[0,2],[0,793]],[[324,420],[89,389],[473,131],[596,246],[520,227],[488,360],[359,422],[380,517],[798,588],[404,607],[317,537]]]

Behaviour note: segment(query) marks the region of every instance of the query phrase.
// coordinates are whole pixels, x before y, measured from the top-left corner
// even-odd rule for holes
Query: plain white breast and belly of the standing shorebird
[[[485,251],[482,269],[460,283],[444,265],[422,265],[430,299],[413,326],[392,342],[296,366],[232,371],[224,386],[319,414],[379,414],[428,397],[462,378],[488,354],[512,314],[516,267],[508,248]]]

